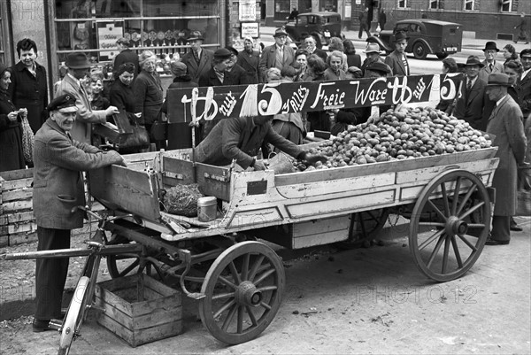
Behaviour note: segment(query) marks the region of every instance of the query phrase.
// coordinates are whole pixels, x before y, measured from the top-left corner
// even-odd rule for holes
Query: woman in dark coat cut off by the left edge
[[[20,114],[7,92],[11,84],[11,72],[0,63],[0,172],[24,169],[22,127]],[[27,111],[26,111],[27,114]]]

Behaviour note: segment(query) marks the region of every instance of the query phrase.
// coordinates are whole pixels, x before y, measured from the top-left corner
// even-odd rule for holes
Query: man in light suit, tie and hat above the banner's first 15
[[[262,50],[262,58],[260,58],[260,75],[262,82],[266,82],[266,72],[269,68],[277,68],[282,70],[282,67],[289,66],[295,59],[295,50],[286,45],[288,34],[283,28],[277,28],[274,31],[274,44],[267,46]]]

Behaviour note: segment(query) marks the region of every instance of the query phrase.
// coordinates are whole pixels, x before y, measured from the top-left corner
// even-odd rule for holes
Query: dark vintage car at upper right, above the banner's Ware
[[[424,59],[428,54],[446,58],[449,54],[461,51],[463,26],[437,19],[403,19],[396,22],[393,30],[381,31],[380,36],[370,37],[367,42],[378,42],[388,54],[395,50],[395,34],[406,32],[410,37],[405,51],[415,58]]]

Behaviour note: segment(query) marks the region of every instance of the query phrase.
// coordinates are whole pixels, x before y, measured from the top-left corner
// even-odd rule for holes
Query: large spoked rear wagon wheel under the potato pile
[[[480,257],[489,226],[483,182],[465,170],[441,174],[422,190],[412,212],[409,243],[415,263],[437,282],[455,280]]]

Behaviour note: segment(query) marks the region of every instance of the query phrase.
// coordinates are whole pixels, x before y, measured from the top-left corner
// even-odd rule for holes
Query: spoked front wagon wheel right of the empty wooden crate
[[[281,306],[285,274],[266,244],[237,243],[214,260],[204,278],[199,313],[223,343],[248,342],[273,321]]]

